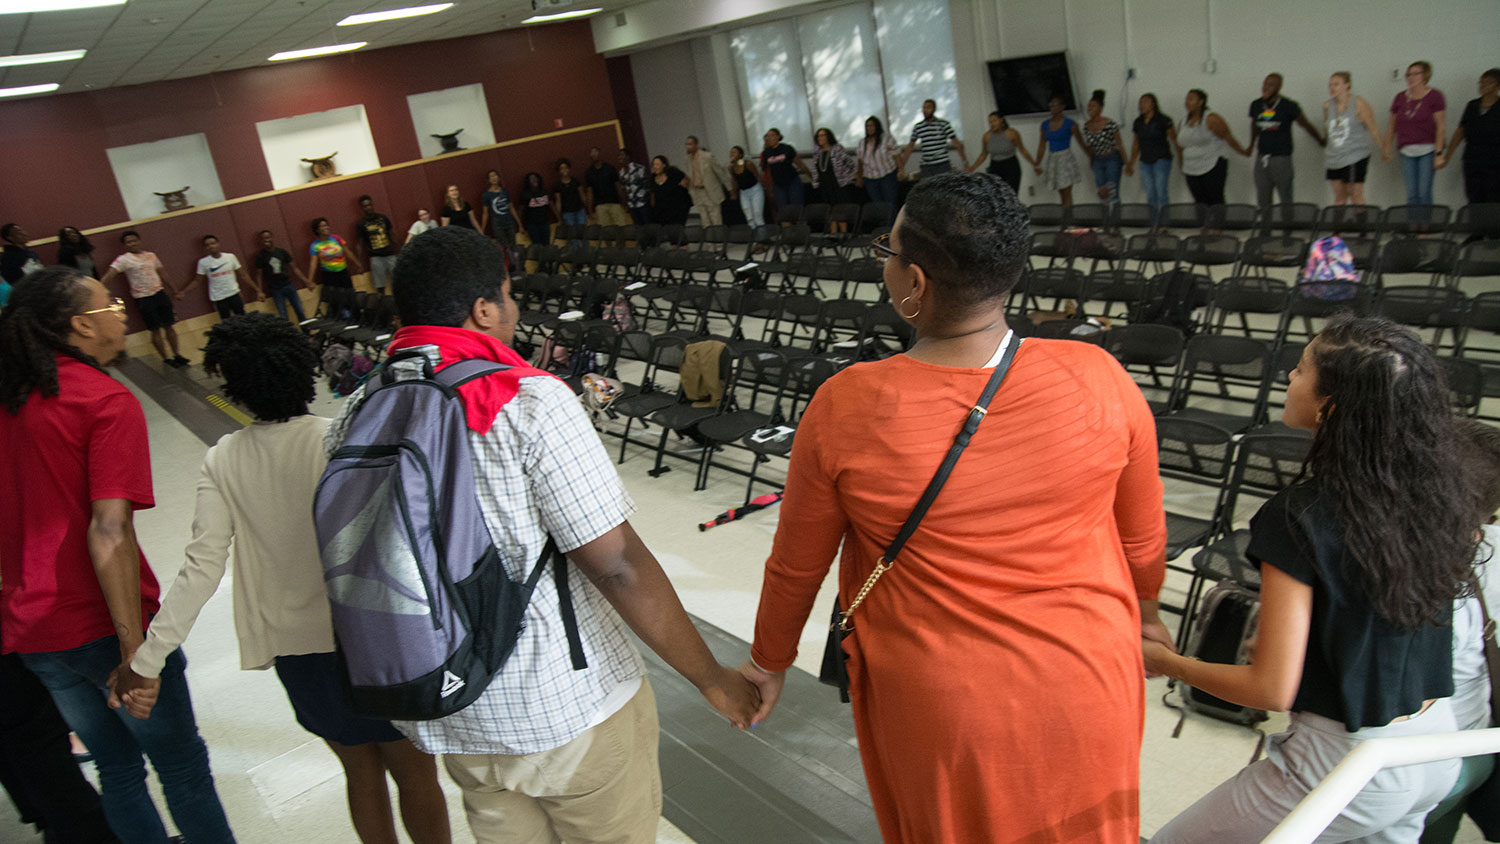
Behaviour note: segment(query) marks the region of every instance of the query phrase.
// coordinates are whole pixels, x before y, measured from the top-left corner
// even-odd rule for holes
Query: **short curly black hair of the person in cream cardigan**
[[[208,330],[202,369],[224,376],[224,391],[261,421],[308,414],[318,396],[312,342],[270,313],[231,316]]]

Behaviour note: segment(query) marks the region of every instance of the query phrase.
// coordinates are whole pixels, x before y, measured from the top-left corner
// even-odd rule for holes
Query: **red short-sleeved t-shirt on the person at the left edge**
[[[146,414],[98,369],[57,358],[58,396],[0,408],[0,639],[6,652],[69,651],[114,634],[88,556],[93,502],[153,507]],[[142,624],[160,588],[141,555]]]

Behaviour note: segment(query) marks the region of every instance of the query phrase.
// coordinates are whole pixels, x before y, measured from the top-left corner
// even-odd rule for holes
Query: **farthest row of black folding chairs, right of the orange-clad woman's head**
[[[1054,202],[1030,205],[1035,228],[1150,229],[1150,205],[1120,202],[1065,207]],[[1500,237],[1500,202],[1449,205],[1324,205],[1282,202],[1260,208],[1248,204],[1198,205],[1173,202],[1164,208],[1162,225],[1174,229],[1296,231],[1356,235],[1480,235]]]

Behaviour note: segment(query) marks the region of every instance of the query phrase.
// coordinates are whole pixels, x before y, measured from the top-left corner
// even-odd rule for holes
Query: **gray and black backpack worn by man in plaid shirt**
[[[392,363],[411,358],[422,376],[396,379]],[[362,715],[426,721],[472,703],[514,651],[548,562],[573,667],[586,667],[567,558],[549,537],[525,582],[512,580],[480,510],[458,388],[507,369],[462,360],[434,373],[422,352],[392,355],[318,481],[322,577]]]

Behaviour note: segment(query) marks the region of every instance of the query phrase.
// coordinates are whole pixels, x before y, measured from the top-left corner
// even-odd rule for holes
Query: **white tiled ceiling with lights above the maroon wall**
[[[282,49],[368,40],[362,52],[516,27],[531,0],[456,0],[420,18],[334,27],[346,15],[435,0],[129,0],[123,6],[0,15],[0,55],[87,49],[80,61],[0,69],[0,87],[60,82],[75,93],[266,64]],[[548,10],[639,0],[582,0]]]

